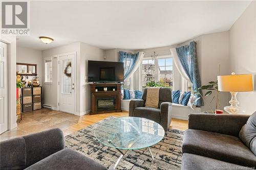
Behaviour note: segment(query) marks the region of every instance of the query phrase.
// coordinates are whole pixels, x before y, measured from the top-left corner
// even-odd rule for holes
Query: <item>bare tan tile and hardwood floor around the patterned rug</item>
[[[23,114],[23,120],[18,123],[18,127],[1,134],[0,141],[51,128],[60,128],[66,136],[109,116],[128,116],[128,112],[75,116],[73,114],[49,109],[36,110]],[[170,128],[184,131],[187,129],[187,121],[173,118]]]

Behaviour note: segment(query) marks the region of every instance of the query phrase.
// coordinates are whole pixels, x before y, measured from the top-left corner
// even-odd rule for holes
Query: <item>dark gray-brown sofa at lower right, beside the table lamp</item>
[[[251,116],[190,114],[182,143],[182,169],[256,168],[255,150],[256,112]]]

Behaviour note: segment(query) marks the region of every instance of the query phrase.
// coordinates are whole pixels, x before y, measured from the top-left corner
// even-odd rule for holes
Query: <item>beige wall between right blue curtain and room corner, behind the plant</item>
[[[201,37],[201,80],[202,85],[208,84],[210,81],[217,81],[219,75],[230,74],[230,62],[228,56],[228,31],[203,35]],[[206,90],[204,90],[206,92]],[[215,93],[214,93],[215,94]],[[211,97],[213,95],[211,94]],[[211,97],[205,98],[210,102]],[[215,98],[216,99],[216,98]],[[223,109],[228,105],[229,93],[220,92],[220,107]],[[216,100],[212,102],[212,109],[216,108]],[[202,110],[209,110],[205,104]]]

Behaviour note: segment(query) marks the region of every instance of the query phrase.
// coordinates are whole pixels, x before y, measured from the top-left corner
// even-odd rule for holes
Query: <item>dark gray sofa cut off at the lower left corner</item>
[[[63,133],[57,128],[2,141],[0,169],[107,169],[64,146]]]

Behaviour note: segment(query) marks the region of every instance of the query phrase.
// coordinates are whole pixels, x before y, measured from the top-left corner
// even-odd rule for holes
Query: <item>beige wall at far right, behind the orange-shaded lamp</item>
[[[240,107],[247,114],[256,111],[256,2],[252,1],[229,31],[231,69],[236,74],[252,74],[254,91],[239,92]]]

